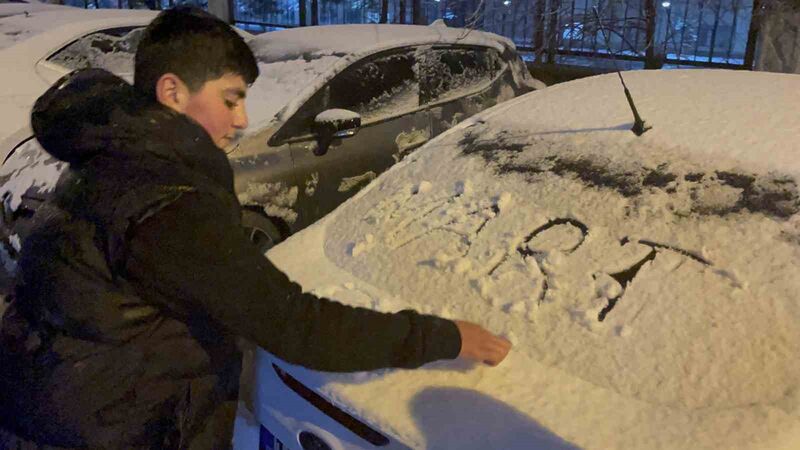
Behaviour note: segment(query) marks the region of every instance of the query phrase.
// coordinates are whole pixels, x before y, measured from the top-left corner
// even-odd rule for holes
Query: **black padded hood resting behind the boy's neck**
[[[58,80],[36,100],[31,126],[48,153],[76,169],[97,157],[123,165],[155,158],[233,189],[228,159],[203,127],[105,70]]]

